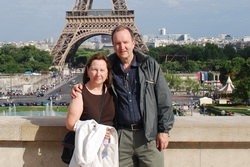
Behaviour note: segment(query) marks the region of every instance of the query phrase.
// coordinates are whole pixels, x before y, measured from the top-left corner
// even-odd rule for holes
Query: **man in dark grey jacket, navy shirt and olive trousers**
[[[128,27],[116,27],[112,42],[115,53],[108,59],[117,99],[120,166],[163,167],[174,114],[162,70],[153,58],[135,49],[134,33]]]

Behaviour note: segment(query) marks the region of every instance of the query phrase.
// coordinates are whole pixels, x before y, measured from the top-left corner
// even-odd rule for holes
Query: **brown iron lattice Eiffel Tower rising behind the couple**
[[[66,25],[52,50],[53,64],[62,67],[72,59],[78,47],[96,35],[111,35],[118,25],[126,25],[135,35],[136,48],[147,51],[134,23],[134,11],[128,10],[126,0],[112,0],[113,10],[92,9],[93,0],[75,0],[72,11],[66,12]]]

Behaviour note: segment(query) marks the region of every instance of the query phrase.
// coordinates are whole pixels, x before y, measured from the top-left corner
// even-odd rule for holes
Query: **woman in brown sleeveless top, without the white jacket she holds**
[[[82,94],[78,93],[69,105],[67,129],[73,130],[78,120],[94,119],[98,121],[103,89],[105,89],[105,101],[99,123],[113,125],[115,105],[109,91],[111,89],[108,89],[111,84],[112,72],[107,57],[100,53],[93,55],[85,66],[83,92]]]

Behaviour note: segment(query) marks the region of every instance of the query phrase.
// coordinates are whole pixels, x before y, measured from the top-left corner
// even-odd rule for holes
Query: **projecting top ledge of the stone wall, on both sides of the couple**
[[[1,117],[0,141],[61,141],[65,117]],[[250,117],[176,117],[171,142],[250,142]]]

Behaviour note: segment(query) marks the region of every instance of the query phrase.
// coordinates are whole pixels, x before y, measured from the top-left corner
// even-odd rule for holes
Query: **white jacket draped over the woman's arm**
[[[98,124],[95,120],[77,121],[74,126],[75,150],[69,167],[118,167],[118,135],[114,127]],[[103,144],[107,129],[110,143],[103,157]]]

